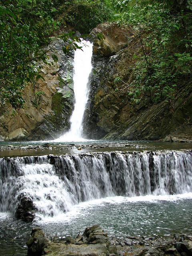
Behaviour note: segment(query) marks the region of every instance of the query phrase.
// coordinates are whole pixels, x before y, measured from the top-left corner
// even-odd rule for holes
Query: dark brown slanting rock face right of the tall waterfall
[[[98,38],[100,32],[104,38]],[[181,84],[172,102],[133,105],[128,95],[135,56],[142,54],[138,36],[114,23],[92,32],[93,72],[84,128],[90,138],[192,141],[192,86]],[[121,80],[114,82],[116,77]],[[126,84],[125,84],[126,83]]]

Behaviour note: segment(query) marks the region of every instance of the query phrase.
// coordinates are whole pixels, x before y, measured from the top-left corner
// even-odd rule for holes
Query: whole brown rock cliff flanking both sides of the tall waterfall
[[[192,85],[180,82],[174,98],[150,103],[148,96],[139,104],[130,100],[129,84],[135,56],[142,47],[129,26],[115,22],[92,30],[93,71],[90,99],[84,118],[87,138],[192,141]],[[54,139],[69,128],[74,105],[72,86],[73,54],[66,56],[57,42],[56,64],[43,64],[42,76],[24,90],[25,108],[14,111],[10,105],[0,110],[0,140]],[[120,77],[118,83],[114,80]]]

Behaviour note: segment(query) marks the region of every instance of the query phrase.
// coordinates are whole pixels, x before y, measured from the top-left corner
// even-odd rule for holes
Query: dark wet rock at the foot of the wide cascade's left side
[[[16,217],[25,222],[32,222],[35,218],[35,206],[28,197],[21,198],[21,203],[16,208]]]

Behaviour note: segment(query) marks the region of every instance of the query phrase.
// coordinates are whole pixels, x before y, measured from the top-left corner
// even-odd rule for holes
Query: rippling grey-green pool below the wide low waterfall
[[[53,218],[25,223],[0,213],[0,255],[26,255],[33,226],[51,236],[77,236],[86,226],[100,224],[109,236],[170,236],[192,234],[192,193],[175,196],[116,196],[82,202]]]

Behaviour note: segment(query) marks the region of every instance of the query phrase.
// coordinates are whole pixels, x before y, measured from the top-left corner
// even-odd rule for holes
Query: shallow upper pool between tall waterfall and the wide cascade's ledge
[[[54,141],[29,141],[29,142],[0,142],[0,146],[27,146],[27,145],[42,145],[49,143],[49,148],[40,149],[16,149],[0,151],[0,157],[14,156],[42,156],[48,154],[63,155],[63,154],[79,154],[87,152],[108,152],[108,151],[154,151],[154,150],[185,150],[192,149],[192,143],[177,143],[177,142],[150,142],[150,141],[128,141],[128,140],[87,140],[82,142],[54,142]],[[67,145],[75,144],[75,146]],[[108,145],[106,147],[106,144]],[[57,145],[62,146],[62,149],[56,148]],[[78,150],[76,146],[86,145],[82,150]],[[89,146],[92,147],[89,147]],[[115,145],[115,146],[114,146]],[[127,146],[125,146],[127,145]],[[98,148],[96,147],[98,146]],[[99,147],[101,146],[101,147]]]

